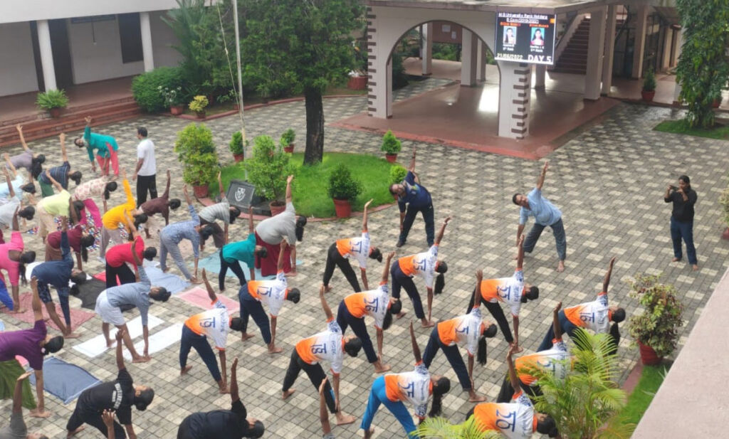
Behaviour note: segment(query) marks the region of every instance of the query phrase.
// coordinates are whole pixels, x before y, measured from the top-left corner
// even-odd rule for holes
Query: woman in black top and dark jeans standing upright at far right
[[[671,211],[671,240],[674,242],[674,258],[672,262],[681,261],[683,253],[681,240],[686,243],[686,255],[688,263],[693,271],[698,270],[696,259],[696,248],[693,246],[693,205],[696,204],[696,191],[691,189],[691,179],[688,175],[679,177],[679,187],[669,184],[663,201],[673,202],[674,208]]]

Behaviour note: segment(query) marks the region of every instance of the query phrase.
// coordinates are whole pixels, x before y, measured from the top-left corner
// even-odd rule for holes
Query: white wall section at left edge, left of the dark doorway
[[[38,90],[30,23],[0,24],[0,96]]]

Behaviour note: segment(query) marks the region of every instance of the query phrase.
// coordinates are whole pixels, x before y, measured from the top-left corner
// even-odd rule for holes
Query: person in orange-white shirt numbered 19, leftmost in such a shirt
[[[233,331],[241,331],[243,322],[241,317],[231,318],[227,307],[215,296],[215,291],[208,282],[208,276],[203,269],[203,282],[208,290],[213,309],[200,312],[185,320],[182,326],[182,339],[180,341],[180,375],[184,375],[192,368],[187,365],[187,355],[190,354],[190,348],[194,347],[200,357],[202,357],[208,371],[217,382],[220,393],[230,392],[227,387],[227,366],[225,365],[225,344],[227,341],[228,329]],[[210,348],[207,338],[213,339],[218,355],[220,357],[220,365],[223,375],[220,374],[218,362],[215,360],[213,349]]]

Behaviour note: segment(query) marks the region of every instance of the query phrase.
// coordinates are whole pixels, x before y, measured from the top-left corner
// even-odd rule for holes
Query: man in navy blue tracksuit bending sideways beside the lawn
[[[405,245],[405,240],[408,239],[408,233],[410,233],[410,227],[413,226],[413,221],[415,221],[418,212],[423,214],[426,240],[429,247],[433,245],[435,237],[433,200],[428,189],[420,184],[418,175],[415,173],[415,155],[416,149],[413,148],[413,158],[410,159],[410,167],[408,167],[408,175],[405,175],[405,180],[402,183],[390,185],[390,193],[397,197],[397,206],[400,209],[400,237],[397,240],[397,247]]]

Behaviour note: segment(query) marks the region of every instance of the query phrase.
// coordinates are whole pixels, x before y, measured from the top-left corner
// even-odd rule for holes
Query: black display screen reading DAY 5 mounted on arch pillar
[[[494,58],[516,63],[554,64],[555,15],[496,12]]]

